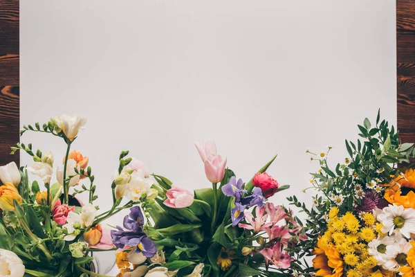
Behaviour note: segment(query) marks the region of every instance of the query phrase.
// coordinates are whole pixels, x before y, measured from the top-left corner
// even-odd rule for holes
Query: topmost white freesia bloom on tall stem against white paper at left
[[[69,141],[73,141],[80,129],[86,124],[86,118],[79,114],[75,114],[75,116],[63,114],[62,116],[51,118],[51,120],[55,124],[56,132],[63,132]]]

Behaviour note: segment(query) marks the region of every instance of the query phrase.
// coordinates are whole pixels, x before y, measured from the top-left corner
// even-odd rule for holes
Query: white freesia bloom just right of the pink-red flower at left
[[[66,218],[66,224],[62,226],[68,231],[68,235],[65,236],[64,240],[72,241],[76,238],[75,226],[77,225],[78,229],[89,227],[93,224],[95,216],[97,215],[97,210],[92,204],[86,204],[82,207],[81,213],[69,212],[68,217]]]

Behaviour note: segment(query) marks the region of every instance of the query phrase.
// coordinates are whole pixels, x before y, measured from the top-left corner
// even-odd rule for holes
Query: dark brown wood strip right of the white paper
[[[415,142],[415,1],[396,1],[398,129],[403,143]]]

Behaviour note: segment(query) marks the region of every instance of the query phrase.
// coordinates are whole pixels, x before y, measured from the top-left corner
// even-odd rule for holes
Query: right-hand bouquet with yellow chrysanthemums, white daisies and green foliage
[[[415,276],[415,172],[413,143],[401,144],[387,121],[366,118],[357,143],[346,141],[349,157],[330,168],[327,156],[306,150],[320,169],[311,174],[318,193],[302,225],[307,240],[297,250],[313,258],[304,275]]]

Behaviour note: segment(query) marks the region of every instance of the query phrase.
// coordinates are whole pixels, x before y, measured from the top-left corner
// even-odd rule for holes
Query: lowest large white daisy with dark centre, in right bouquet
[[[399,242],[389,244],[386,247],[387,260],[382,265],[384,269],[389,271],[398,271],[400,266],[407,265],[407,253],[412,248],[412,244],[407,242],[405,238],[400,239]]]

